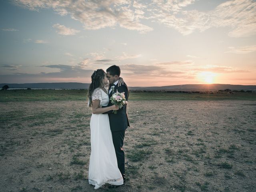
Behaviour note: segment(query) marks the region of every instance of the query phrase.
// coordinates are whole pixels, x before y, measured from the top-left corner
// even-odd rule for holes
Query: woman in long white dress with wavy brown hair
[[[122,185],[124,181],[117,165],[108,114],[102,114],[119,108],[115,105],[106,108],[100,107],[107,106],[109,102],[106,72],[98,69],[94,71],[91,78],[92,83],[88,90],[88,106],[92,107],[89,184],[94,185],[94,189],[98,189],[106,183]]]

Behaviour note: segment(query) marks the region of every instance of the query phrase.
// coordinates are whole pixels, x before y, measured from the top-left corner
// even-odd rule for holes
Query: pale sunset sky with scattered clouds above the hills
[[[256,85],[256,0],[1,0],[0,83]]]

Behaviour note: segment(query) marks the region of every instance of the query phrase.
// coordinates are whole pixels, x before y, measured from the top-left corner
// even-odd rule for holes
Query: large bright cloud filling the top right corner
[[[188,35],[195,30],[203,32],[212,27],[228,27],[230,29],[228,35],[232,37],[256,34],[256,2],[254,0],[230,0],[208,12],[182,9],[194,2],[192,0],[167,2],[156,0],[150,4],[152,19],[178,30],[183,35]]]

